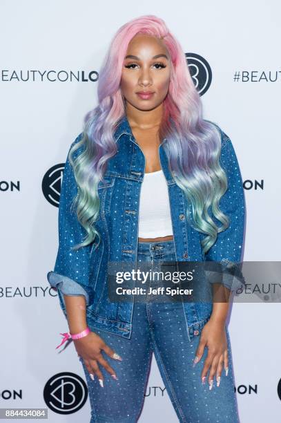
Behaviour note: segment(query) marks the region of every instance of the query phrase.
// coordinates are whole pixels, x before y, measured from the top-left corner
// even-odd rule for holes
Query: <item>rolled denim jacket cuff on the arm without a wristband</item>
[[[209,270],[205,270],[209,283],[222,283],[231,291],[241,290],[245,284],[244,276],[241,272],[241,263],[233,263],[228,259],[211,263]]]

